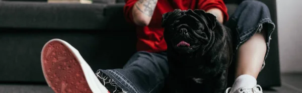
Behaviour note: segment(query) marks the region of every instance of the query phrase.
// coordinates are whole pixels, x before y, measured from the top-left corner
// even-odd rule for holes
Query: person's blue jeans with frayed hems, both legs
[[[267,30],[267,57],[270,36],[275,25],[270,19],[268,7],[256,0],[245,0],[225,22],[234,33],[235,53],[240,45],[247,41],[262,28]],[[233,59],[235,60],[235,59]],[[233,63],[234,64],[234,63]],[[263,67],[264,67],[263,63]],[[168,60],[166,52],[136,52],[122,69],[100,69],[114,79],[116,84],[124,91],[135,93],[161,92],[164,87],[164,79],[168,76]]]

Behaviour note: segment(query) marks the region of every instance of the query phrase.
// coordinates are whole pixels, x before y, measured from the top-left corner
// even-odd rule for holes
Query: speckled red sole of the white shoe
[[[51,41],[45,45],[42,67],[45,79],[54,92],[92,92],[79,60],[61,42]]]

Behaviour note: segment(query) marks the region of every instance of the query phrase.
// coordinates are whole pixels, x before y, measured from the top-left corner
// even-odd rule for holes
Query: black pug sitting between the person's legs
[[[162,26],[170,69],[164,92],[223,92],[233,57],[231,30],[201,9],[167,12]]]

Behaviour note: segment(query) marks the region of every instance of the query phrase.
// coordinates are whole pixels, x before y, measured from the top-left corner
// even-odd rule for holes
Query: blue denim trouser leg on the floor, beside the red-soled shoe
[[[160,92],[168,76],[166,52],[138,51],[122,69],[100,69],[126,92]]]

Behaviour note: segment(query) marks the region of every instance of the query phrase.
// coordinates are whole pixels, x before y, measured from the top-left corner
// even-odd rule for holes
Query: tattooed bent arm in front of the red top
[[[150,23],[158,0],[138,0],[132,8],[133,21],[137,25],[146,26]]]

